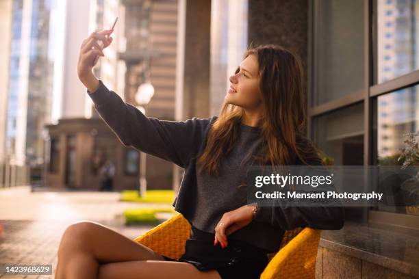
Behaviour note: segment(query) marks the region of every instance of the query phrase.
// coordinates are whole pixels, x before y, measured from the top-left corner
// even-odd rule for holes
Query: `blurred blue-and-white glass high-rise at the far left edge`
[[[54,0],[2,1],[5,21],[5,45],[2,66],[7,65],[2,77],[2,106],[5,112],[0,137],[3,185],[28,183],[40,179],[44,163],[44,137],[46,123],[51,121],[53,88],[53,29],[51,13],[57,7]],[[11,20],[11,21],[9,21]],[[9,40],[10,38],[10,40]],[[4,58],[3,58],[4,59]],[[2,96],[2,97],[3,97]],[[5,100],[5,101],[4,101]]]

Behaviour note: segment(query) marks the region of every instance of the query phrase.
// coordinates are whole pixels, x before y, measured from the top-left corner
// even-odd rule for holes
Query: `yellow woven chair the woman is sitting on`
[[[312,228],[285,231],[279,251],[268,254],[269,263],[260,278],[314,278],[320,232]],[[134,240],[158,254],[179,259],[189,235],[190,224],[179,213]]]

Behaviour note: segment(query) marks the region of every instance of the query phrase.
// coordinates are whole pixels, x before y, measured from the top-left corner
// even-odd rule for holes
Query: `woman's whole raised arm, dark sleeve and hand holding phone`
[[[199,149],[211,118],[192,118],[184,122],[158,120],[144,116],[136,107],[108,90],[94,76],[92,68],[97,63],[97,56],[104,56],[103,49],[112,43],[110,34],[112,30],[94,32],[80,47],[77,74],[88,89],[95,109],[126,146],[186,168],[194,151]]]

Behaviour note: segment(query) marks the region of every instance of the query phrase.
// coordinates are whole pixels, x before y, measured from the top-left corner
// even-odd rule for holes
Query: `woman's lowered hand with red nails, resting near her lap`
[[[218,242],[222,248],[227,247],[227,235],[231,235],[239,228],[249,225],[253,220],[255,205],[244,205],[223,214],[215,228],[214,245]]]

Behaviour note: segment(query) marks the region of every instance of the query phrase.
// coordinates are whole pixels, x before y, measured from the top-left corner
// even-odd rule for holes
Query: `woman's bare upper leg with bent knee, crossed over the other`
[[[55,278],[97,278],[101,263],[147,260],[164,258],[107,226],[77,222],[62,236]]]

